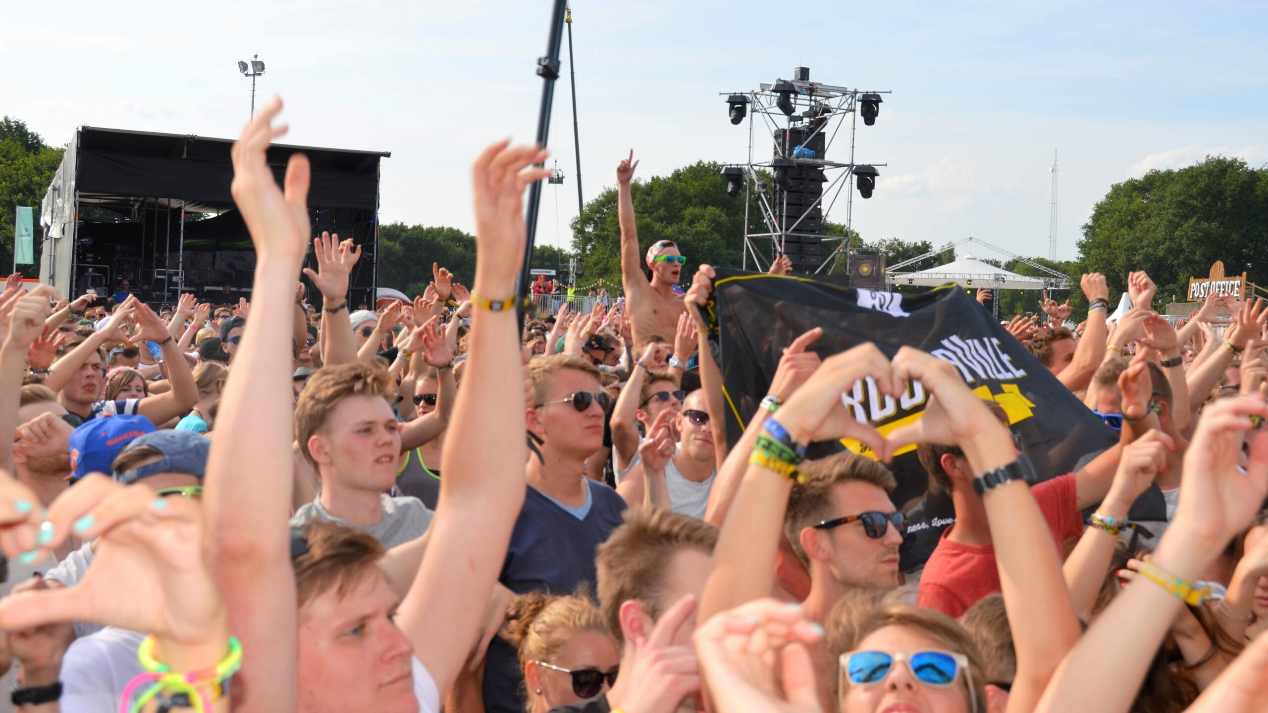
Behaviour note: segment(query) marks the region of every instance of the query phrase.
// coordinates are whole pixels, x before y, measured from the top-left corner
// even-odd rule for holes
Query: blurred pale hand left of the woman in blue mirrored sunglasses
[[[800,607],[758,599],[696,628],[700,671],[718,713],[819,713],[806,648],[823,629]]]

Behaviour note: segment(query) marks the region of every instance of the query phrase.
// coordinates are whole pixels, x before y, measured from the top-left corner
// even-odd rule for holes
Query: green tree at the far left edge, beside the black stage
[[[0,265],[13,263],[14,209],[28,205],[36,214],[36,263],[18,267],[28,277],[39,274],[39,204],[61,162],[62,149],[44,146],[44,139],[25,123],[0,119]]]

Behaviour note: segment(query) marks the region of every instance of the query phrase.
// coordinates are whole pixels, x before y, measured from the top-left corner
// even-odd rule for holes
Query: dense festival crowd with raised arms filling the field
[[[1110,320],[1089,274],[1082,324],[1046,296],[1046,320],[1009,320],[1032,377],[1118,436],[1071,474],[1037,472],[947,362],[820,353],[819,328],[729,443],[715,274],[680,294],[689,256],[640,244],[633,153],[624,300],[517,317],[522,195],[550,172],[500,142],[472,170],[472,286],[436,266],[412,304],[350,310],[360,248],[309,234],[303,155],[280,186],[266,161],[280,109],[233,147],[250,300],[0,295],[18,710],[1268,705],[1263,300],[1173,325],[1132,272]],[[919,381],[922,415],[861,423],[841,398],[861,379],[895,399]],[[842,438],[875,457],[806,457]],[[886,464],[910,445],[955,522],[904,571]]]

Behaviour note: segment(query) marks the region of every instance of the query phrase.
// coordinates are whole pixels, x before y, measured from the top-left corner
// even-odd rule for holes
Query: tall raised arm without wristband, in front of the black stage
[[[285,132],[271,125],[280,109],[280,100],[270,100],[233,144],[233,201],[255,243],[255,284],[203,491],[212,572],[242,640],[245,685],[236,703],[252,712],[294,710],[299,657],[287,523],[295,438],[290,331],[278,325],[290,320],[308,242],[309,166],[304,155],[293,155],[285,194],[279,190],[265,151]]]

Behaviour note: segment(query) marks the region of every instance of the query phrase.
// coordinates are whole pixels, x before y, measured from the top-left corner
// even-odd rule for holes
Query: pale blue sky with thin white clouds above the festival
[[[52,144],[81,124],[235,137],[251,92],[236,62],[259,53],[257,103],[280,95],[292,127],[279,141],[391,151],[382,222],[472,230],[470,161],[535,136],[550,5],[63,1],[8,18],[0,114]],[[1263,3],[573,0],[573,20],[587,199],[631,148],[644,179],[743,162],[748,124],[729,123],[719,94],[796,66],[893,91],[858,125],[856,160],[886,165],[855,200],[866,241],[973,236],[1046,257],[1056,149],[1056,257],[1070,260],[1113,184],[1208,153],[1268,161]],[[539,244],[564,247],[577,214],[567,79],[548,160],[564,184],[543,191],[538,225]],[[847,155],[841,139],[828,151]],[[843,198],[828,218],[844,222]]]

